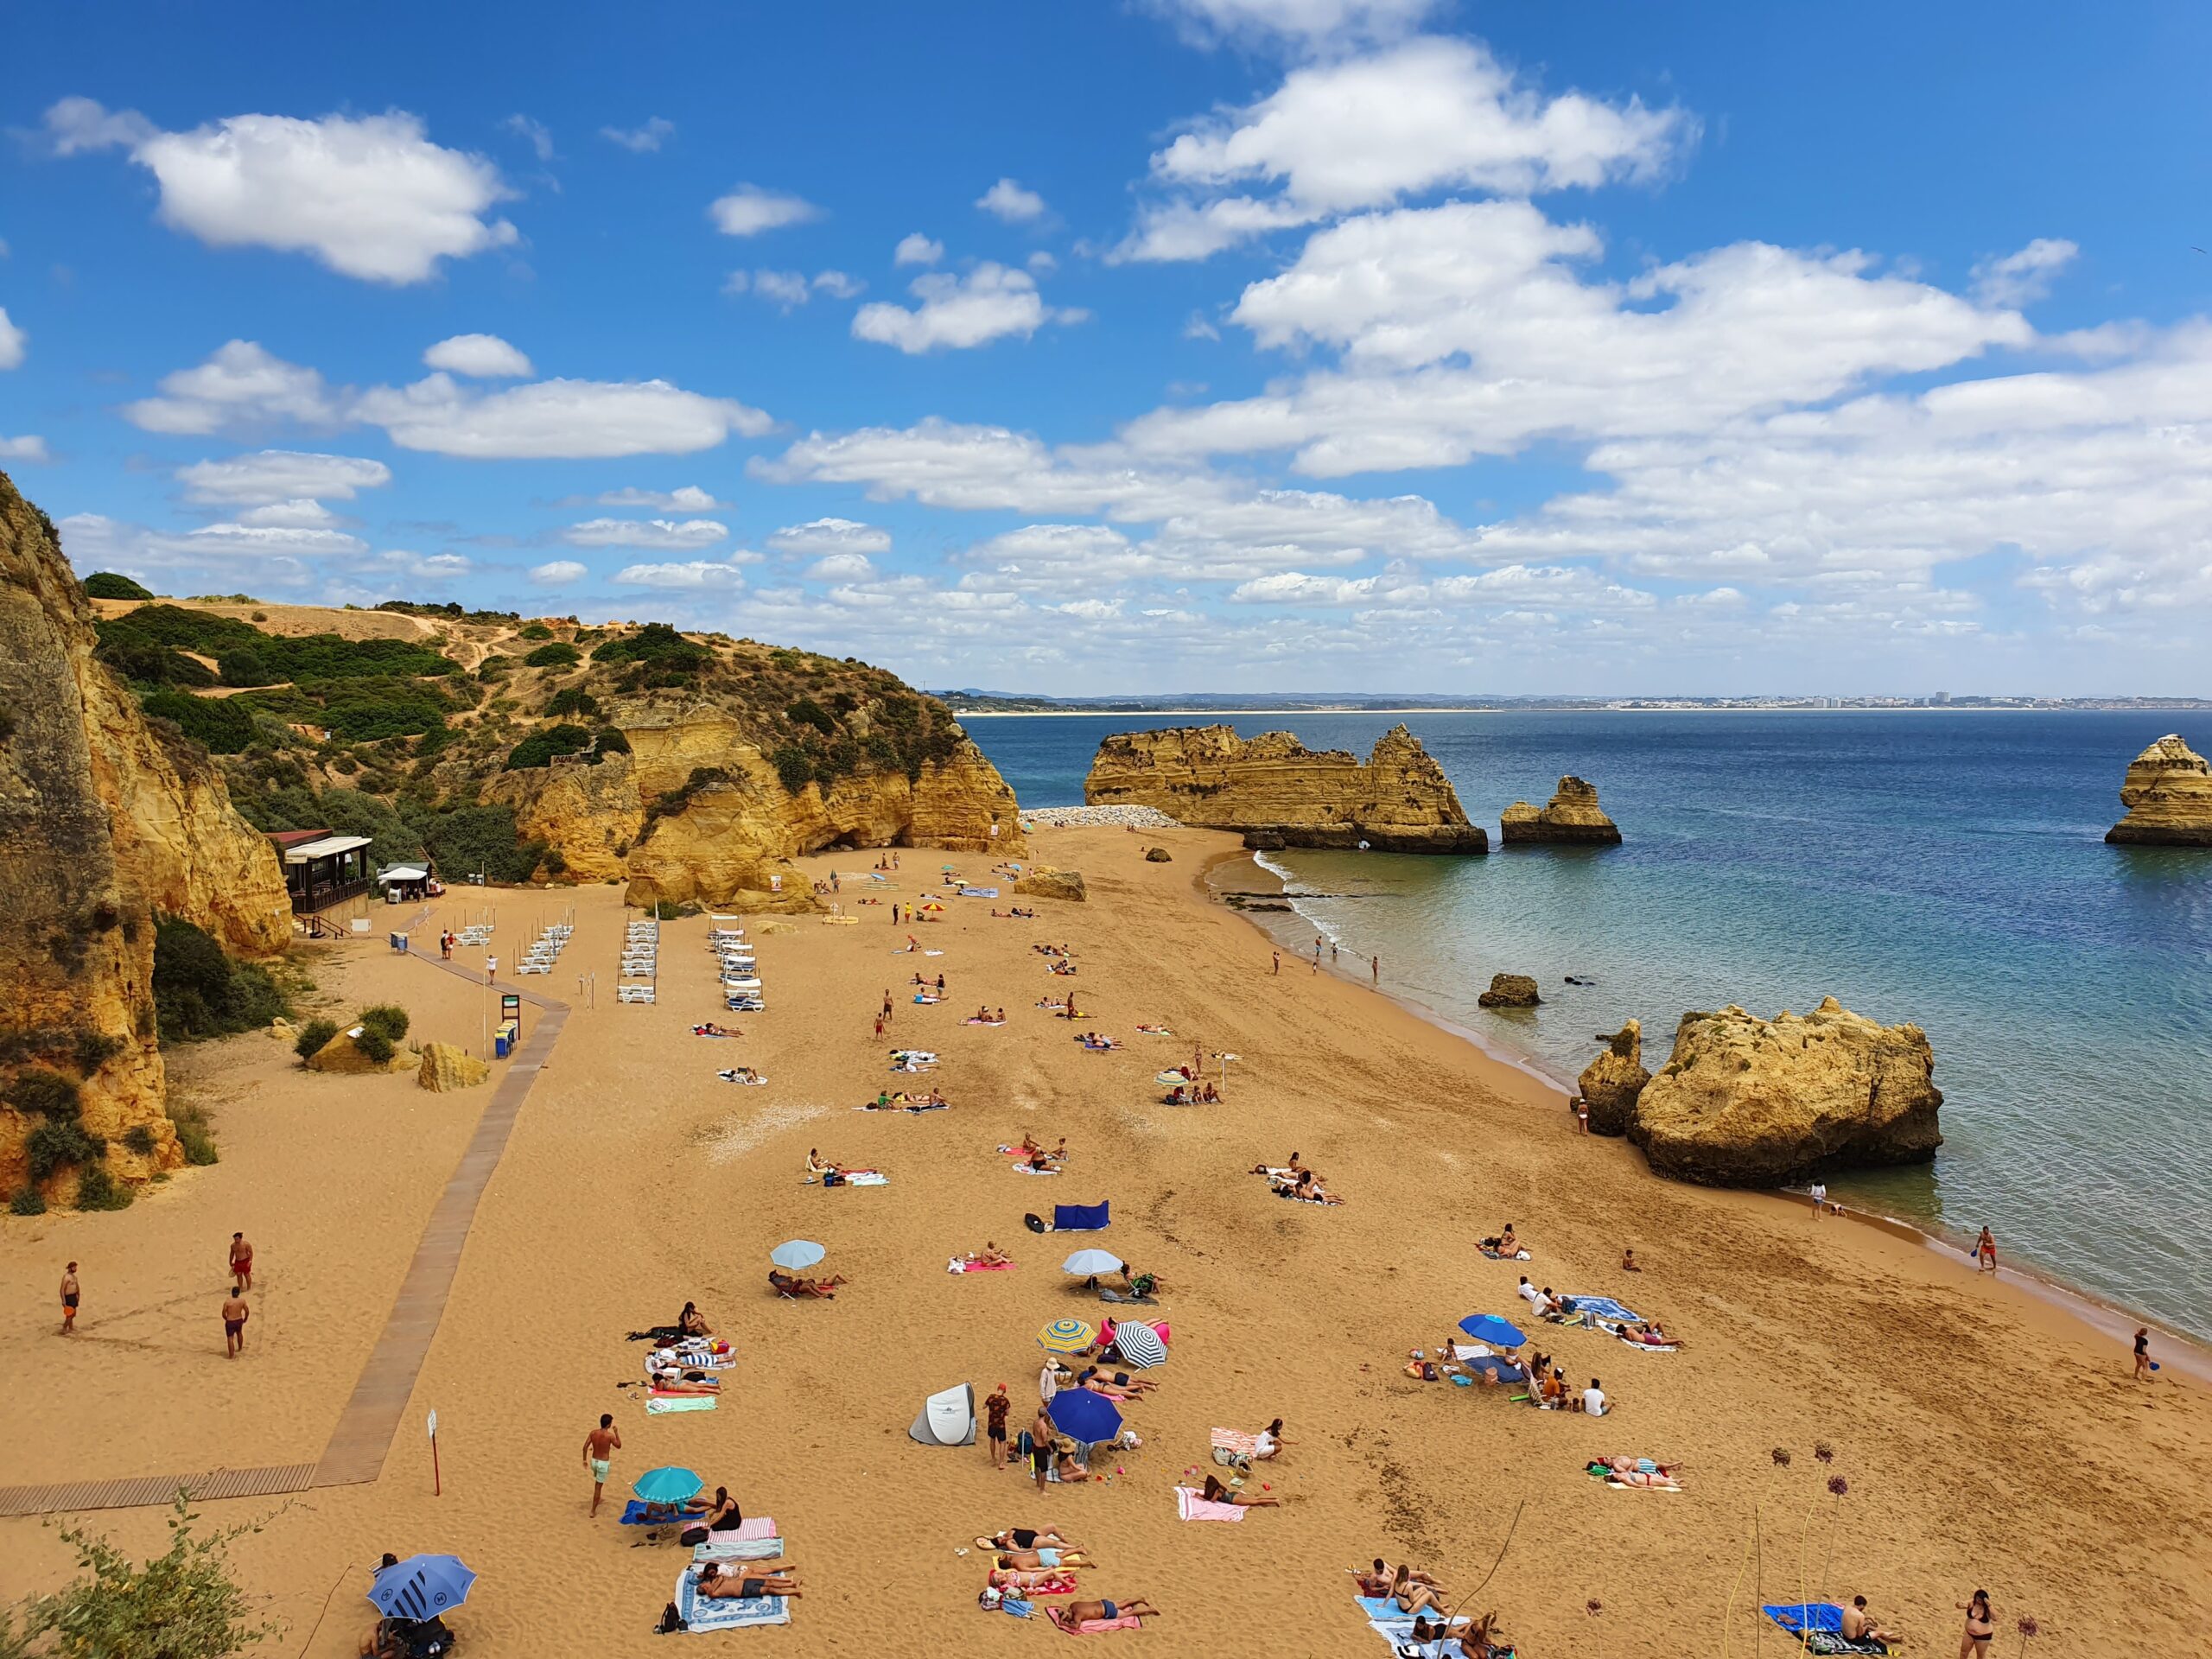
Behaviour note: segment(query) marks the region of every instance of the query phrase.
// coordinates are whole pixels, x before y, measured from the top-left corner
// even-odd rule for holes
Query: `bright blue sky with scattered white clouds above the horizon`
[[[0,467],[168,593],[929,686],[2205,692],[2201,7],[11,22]]]

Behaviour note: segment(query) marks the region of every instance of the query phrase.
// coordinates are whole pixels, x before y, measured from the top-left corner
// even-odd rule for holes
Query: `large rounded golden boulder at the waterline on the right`
[[[1628,1139],[1701,1186],[1783,1186],[1838,1168],[1920,1164],[1942,1135],[1920,1026],[1880,1026],[1825,998],[1805,1015],[1686,1013],[1637,1095]],[[1593,1124],[1595,1128],[1595,1124]]]

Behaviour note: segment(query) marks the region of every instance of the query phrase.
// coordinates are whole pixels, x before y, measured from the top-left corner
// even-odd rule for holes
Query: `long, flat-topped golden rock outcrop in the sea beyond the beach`
[[[1119,732],[1099,743],[1084,801],[1237,830],[1263,849],[1489,852],[1489,836],[1467,821],[1442,768],[1405,726],[1385,732],[1365,763],[1345,750],[1307,750],[1292,732]]]

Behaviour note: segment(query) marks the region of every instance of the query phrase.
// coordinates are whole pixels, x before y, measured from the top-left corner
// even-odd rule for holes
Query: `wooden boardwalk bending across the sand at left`
[[[442,973],[478,982],[478,975],[436,956],[420,956]],[[392,1303],[385,1329],[369,1352],[369,1363],[354,1380],[354,1394],[338,1413],[338,1425],[330,1431],[330,1442],[316,1462],[279,1464],[268,1469],[215,1469],[199,1475],[137,1475],[133,1480],[80,1480],[55,1486],[0,1486],[0,1515],[51,1515],[82,1509],[142,1509],[175,1502],[177,1491],[188,1491],[195,1500],[212,1498],[268,1498],[310,1486],[354,1486],[376,1480],[385,1469],[385,1453],[392,1436],[398,1433],[400,1416],[414,1396],[416,1376],[429,1356],[429,1343],[438,1334],[445,1316],[445,1298],[460,1270],[462,1245],[469,1243],[469,1225],[476,1221],[476,1203],[491,1183],[491,1172],[500,1168],[507,1137],[515,1128],[522,1102],[529,1099],[531,1084],[560,1042],[560,1031],[568,1022],[568,1004],[524,991],[515,984],[500,984],[500,991],[515,991],[538,1009],[535,1029],[522,1040],[507,1075],[491,1091],[469,1148],[453,1166],[438,1208],[429,1212],[422,1239],[416,1243],[414,1261],[400,1281],[400,1294]]]

